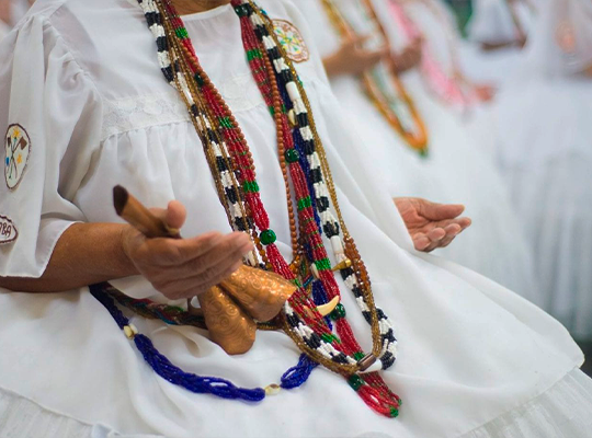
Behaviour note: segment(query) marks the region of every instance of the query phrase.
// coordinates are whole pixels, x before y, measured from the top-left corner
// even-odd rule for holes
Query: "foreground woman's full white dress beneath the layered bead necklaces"
[[[292,3],[266,0],[263,7],[309,39]],[[278,246],[289,257],[275,129],[251,79],[239,21],[230,7],[221,7],[185,23],[246,132]],[[41,1],[12,35],[0,53],[0,124],[25,127],[31,147],[20,184],[13,191],[0,185],[0,212],[19,230],[16,240],[0,246],[0,275],[39,276],[72,221],[118,221],[111,207],[117,183],[146,205],[184,203],[183,235],[229,231],[198,137],[161,77],[137,5]],[[309,49],[310,60],[297,68],[343,215],[376,299],[397,324],[400,357],[384,378],[406,401],[399,418],[374,414],[343,378],[323,369],[300,389],[258,404],[196,395],[157,377],[86,288],[3,291],[0,436],[589,436],[584,413],[592,408],[592,384],[577,370],[582,354],[567,331],[503,287],[412,252],[388,194],[376,188],[354,148],[312,43]],[[14,183],[14,176],[7,182]],[[137,297],[159,297],[141,278],[117,285]],[[354,306],[349,295],[343,299],[348,309]],[[367,348],[364,319],[351,311],[350,320]],[[205,332],[140,318],[133,322],[173,364],[246,388],[277,381],[299,355],[282,333],[261,332],[248,354],[229,357]]]

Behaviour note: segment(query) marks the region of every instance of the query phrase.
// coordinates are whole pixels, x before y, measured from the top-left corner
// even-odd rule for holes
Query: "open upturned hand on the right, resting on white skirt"
[[[431,252],[446,247],[470,226],[469,218],[458,218],[462,205],[434,204],[421,198],[395,198],[415,250]]]

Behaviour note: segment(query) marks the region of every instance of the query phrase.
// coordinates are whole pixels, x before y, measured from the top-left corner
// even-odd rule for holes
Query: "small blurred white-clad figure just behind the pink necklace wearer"
[[[441,0],[444,1],[444,0]],[[475,79],[503,84],[520,64],[538,2],[535,0],[473,0],[462,62]]]

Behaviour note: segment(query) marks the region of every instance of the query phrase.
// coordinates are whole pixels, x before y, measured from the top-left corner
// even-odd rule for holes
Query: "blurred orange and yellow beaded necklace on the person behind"
[[[346,16],[346,10],[339,7],[339,1],[321,0],[331,24],[342,38],[355,34],[367,34],[367,30],[355,28],[361,25],[358,20],[364,19],[375,44],[388,46],[388,36],[376,16],[374,5],[369,0],[355,0],[357,16]],[[428,132],[425,124],[412,97],[396,73],[396,66],[391,58],[379,62],[371,71],[361,76],[362,87],[378,112],[389,125],[399,134],[405,142],[421,155],[428,154]]]

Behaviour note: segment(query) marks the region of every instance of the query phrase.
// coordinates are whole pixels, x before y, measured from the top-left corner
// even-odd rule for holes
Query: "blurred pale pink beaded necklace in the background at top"
[[[413,0],[415,1],[415,0]],[[463,108],[468,108],[479,99],[475,93],[475,88],[469,83],[462,73],[458,64],[458,54],[456,50],[456,35],[446,16],[443,16],[440,8],[431,0],[420,0],[430,12],[439,19],[445,31],[446,51],[452,60],[452,71],[448,73],[445,68],[436,59],[428,44],[424,44],[421,58],[421,76],[426,84],[428,90],[432,91],[437,99],[446,104],[459,105]],[[406,1],[389,0],[388,7],[392,20],[398,24],[408,39],[413,39],[422,36],[417,24],[409,18],[405,11]]]

